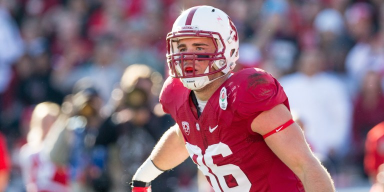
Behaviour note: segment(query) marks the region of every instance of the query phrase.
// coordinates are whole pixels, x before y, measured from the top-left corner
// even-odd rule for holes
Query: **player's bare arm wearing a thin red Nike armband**
[[[291,118],[285,105],[278,104],[254,118],[251,128],[266,135],[266,144],[300,178],[305,191],[334,191],[329,173],[313,155],[299,125],[286,123]]]

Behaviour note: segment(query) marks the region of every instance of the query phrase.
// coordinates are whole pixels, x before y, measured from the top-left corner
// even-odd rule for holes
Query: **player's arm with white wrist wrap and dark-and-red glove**
[[[132,191],[150,191],[150,182],[164,170],[171,169],[189,156],[177,123],[161,136],[148,159],[132,178]]]

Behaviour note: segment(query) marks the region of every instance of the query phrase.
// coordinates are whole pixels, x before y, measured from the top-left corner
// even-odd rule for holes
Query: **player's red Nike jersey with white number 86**
[[[215,191],[304,191],[298,177],[253,132],[252,120],[287,97],[270,74],[247,68],[233,73],[209,98],[201,115],[191,90],[168,77],[160,94],[186,148]]]

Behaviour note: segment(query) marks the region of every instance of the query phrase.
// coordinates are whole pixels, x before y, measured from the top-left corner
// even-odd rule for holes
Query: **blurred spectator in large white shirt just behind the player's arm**
[[[319,49],[303,50],[297,72],[282,76],[291,110],[305,124],[305,137],[331,174],[336,173],[348,147],[351,101],[344,83],[324,71],[325,55]]]

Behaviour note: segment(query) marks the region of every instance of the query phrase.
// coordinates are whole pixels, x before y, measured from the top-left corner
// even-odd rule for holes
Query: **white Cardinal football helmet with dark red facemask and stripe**
[[[216,46],[213,53],[182,52],[177,49],[177,42],[182,38],[209,37]],[[229,16],[222,10],[212,6],[194,6],[183,11],[173,23],[172,31],[166,37],[167,63],[169,75],[180,78],[185,87],[196,90],[209,84],[209,74],[228,73],[238,59],[237,30]],[[195,74],[195,60],[209,60],[210,63],[203,74]],[[185,74],[184,61],[193,63],[192,73]],[[223,74],[223,75],[224,75]],[[222,76],[223,76],[222,75]],[[220,76],[221,77],[221,76]]]

